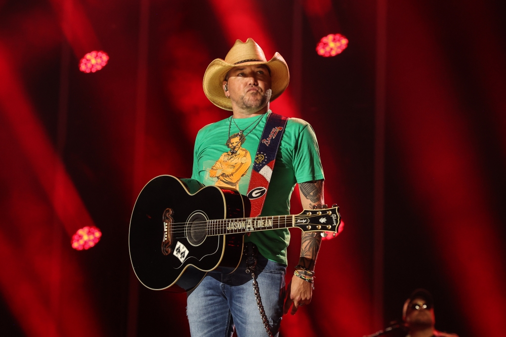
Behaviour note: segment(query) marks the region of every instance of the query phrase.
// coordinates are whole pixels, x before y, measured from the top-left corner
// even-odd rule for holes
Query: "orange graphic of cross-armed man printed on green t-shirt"
[[[216,186],[239,190],[239,181],[251,165],[249,151],[242,147],[246,137],[242,133],[233,134],[227,140],[228,152],[223,153],[209,170],[209,177],[216,178]]]

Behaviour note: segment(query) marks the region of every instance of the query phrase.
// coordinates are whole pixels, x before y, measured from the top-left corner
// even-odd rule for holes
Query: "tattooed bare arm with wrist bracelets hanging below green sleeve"
[[[318,208],[324,204],[323,201],[323,180],[299,184],[302,207],[312,209],[314,205]],[[316,235],[315,235],[316,234]],[[317,232],[302,233],[301,257],[299,265],[314,271],[316,256],[320,249],[321,236]],[[304,276],[311,277],[310,273],[304,270],[298,270]],[[293,276],[287,288],[287,296],[284,305],[284,314],[287,314],[291,308],[291,314],[294,315],[300,305],[307,305],[311,302],[313,285],[299,277]]]

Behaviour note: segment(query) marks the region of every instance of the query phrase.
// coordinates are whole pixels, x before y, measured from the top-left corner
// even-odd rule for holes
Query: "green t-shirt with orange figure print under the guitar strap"
[[[231,119],[226,118],[203,127],[195,140],[192,178],[204,185],[232,187],[246,195],[253,167],[251,161],[255,159],[269,114],[270,110],[262,117],[234,119],[237,126],[233,121],[230,125]],[[251,131],[258,118],[259,124]],[[238,133],[238,128],[248,127],[244,130],[246,139],[235,153],[226,145],[229,127],[230,135]],[[296,183],[320,179],[324,176],[313,128],[302,119],[288,119],[261,216],[290,214],[290,196]],[[287,229],[252,232],[244,241],[255,243],[267,259],[287,265],[286,247],[290,242]]]

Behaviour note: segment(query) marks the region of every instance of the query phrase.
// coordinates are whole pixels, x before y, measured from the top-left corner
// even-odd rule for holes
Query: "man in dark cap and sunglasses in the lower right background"
[[[416,289],[404,302],[402,318],[409,331],[407,337],[458,337],[456,334],[434,328],[434,300],[431,293],[425,289]]]

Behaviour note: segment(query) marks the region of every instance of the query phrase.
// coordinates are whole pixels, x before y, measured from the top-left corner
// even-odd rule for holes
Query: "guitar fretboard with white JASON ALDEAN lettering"
[[[294,215],[208,220],[207,235],[224,235],[280,229],[294,226]]]

